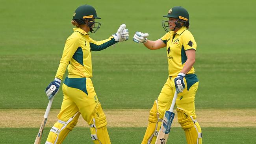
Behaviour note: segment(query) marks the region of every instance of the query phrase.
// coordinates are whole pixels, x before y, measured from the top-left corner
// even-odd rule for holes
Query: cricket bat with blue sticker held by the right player
[[[176,102],[177,95],[178,94],[175,91],[171,107],[168,111],[165,111],[165,116],[163,117],[163,121],[162,121],[160,130],[158,132],[155,144],[166,144],[167,143],[167,139],[168,139],[170,129],[171,129],[171,124],[173,122],[173,118],[175,115],[173,113],[173,108],[174,108],[174,105]]]

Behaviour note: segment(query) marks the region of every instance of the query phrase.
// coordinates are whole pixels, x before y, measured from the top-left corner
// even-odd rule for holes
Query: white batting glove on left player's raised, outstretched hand
[[[122,41],[127,41],[129,39],[129,31],[128,29],[125,29],[125,28],[126,28],[126,25],[122,24],[117,30],[117,32],[114,35],[112,35],[115,41],[122,42]]]

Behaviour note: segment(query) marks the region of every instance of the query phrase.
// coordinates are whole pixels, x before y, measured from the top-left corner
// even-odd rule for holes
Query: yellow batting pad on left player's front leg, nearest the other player
[[[91,138],[95,144],[110,144],[110,139],[107,130],[107,120],[101,104],[95,108],[93,124],[90,125]]]

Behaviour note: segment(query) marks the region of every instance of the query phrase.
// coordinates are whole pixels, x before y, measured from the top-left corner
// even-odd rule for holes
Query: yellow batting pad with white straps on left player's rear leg
[[[67,122],[58,120],[50,129],[46,144],[61,144],[67,137],[67,134],[72,131],[78,122],[80,112],[77,112],[73,117],[69,118]],[[52,133],[51,133],[52,132]]]

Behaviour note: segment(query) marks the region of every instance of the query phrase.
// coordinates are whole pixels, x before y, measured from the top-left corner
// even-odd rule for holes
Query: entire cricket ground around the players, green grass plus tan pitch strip
[[[107,39],[123,23],[130,32],[128,41],[92,52],[93,85],[113,144],[139,144],[143,139],[149,109],[167,79],[168,67],[165,48],[151,51],[132,37],[135,31],[149,33],[150,40],[162,37],[162,16],[173,6],[189,11],[189,31],[197,42],[195,105],[203,143],[256,142],[256,35],[252,34],[256,2],[2,0],[0,143],[34,142],[48,103],[45,87],[54,79],[63,46],[72,33],[74,9],[81,4],[94,6],[102,18],[100,30],[90,34],[93,39]],[[42,143],[56,121],[62,98],[60,89]],[[168,144],[185,144],[176,117],[172,126]],[[82,118],[63,143],[93,143]]]

